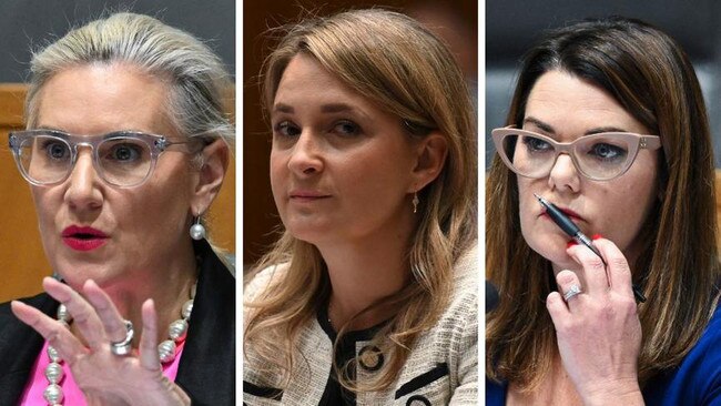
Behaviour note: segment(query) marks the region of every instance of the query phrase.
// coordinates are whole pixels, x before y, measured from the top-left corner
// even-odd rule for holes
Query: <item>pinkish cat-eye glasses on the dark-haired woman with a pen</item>
[[[610,181],[631,168],[639,150],[658,150],[658,135],[603,132],[573,142],[556,140],[514,128],[491,131],[496,150],[506,166],[518,175],[540,179],[550,174],[559,154],[571,158],[576,170],[592,181]]]

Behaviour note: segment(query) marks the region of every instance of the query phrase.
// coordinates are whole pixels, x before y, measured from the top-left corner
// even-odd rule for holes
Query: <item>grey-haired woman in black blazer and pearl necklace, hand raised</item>
[[[0,305],[0,404],[234,404],[235,280],[201,222],[234,136],[221,61],[116,13],[31,73],[9,143],[57,278]]]

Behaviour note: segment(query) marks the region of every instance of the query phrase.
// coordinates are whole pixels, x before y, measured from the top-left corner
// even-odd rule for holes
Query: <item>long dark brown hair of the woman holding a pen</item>
[[[638,20],[589,20],[551,31],[526,54],[507,125],[521,126],[534,84],[552,70],[606,90],[661,136],[660,197],[637,235],[643,247],[631,264],[648,297],[638,307],[643,384],[680,363],[718,303],[714,169],[703,97],[688,57],[669,35]],[[550,263],[521,235],[516,176],[498,155],[486,199],[486,268],[500,292],[486,323],[486,372],[532,389],[557,352],[545,305],[556,283]]]

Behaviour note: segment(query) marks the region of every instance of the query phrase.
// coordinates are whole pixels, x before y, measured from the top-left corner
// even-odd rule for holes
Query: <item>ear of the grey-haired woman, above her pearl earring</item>
[[[197,183],[193,190],[193,207],[206,211],[221,190],[229,164],[229,148],[225,141],[217,139],[206,145],[202,154],[202,165],[197,169]]]

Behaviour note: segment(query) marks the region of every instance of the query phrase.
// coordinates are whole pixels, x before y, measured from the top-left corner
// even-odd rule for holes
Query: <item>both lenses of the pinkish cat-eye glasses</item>
[[[550,173],[557,146],[548,140],[530,134],[507,134],[502,139],[502,153],[519,174],[542,177]],[[572,143],[570,153],[585,175],[605,180],[623,172],[633,156],[633,145],[624,136],[598,134],[579,138]]]

